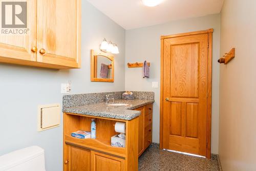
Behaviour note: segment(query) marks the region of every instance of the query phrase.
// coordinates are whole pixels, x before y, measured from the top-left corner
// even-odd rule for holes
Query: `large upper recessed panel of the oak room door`
[[[170,97],[198,97],[199,44],[170,45]]]

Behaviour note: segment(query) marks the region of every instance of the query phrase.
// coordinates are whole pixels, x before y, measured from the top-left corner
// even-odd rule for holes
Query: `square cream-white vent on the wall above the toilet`
[[[60,104],[38,106],[37,131],[44,131],[57,127],[60,124]]]

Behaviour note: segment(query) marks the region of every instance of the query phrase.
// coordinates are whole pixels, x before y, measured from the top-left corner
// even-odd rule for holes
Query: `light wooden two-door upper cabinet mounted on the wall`
[[[27,34],[0,35],[0,62],[80,68],[81,0],[27,1],[27,28]]]

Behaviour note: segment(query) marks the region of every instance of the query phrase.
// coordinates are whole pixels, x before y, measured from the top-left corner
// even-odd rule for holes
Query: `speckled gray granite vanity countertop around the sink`
[[[62,112],[105,117],[105,118],[122,119],[122,120],[132,120],[140,115],[140,111],[133,111],[133,109],[139,108],[143,105],[150,104],[153,102],[154,100],[144,100],[144,99],[133,99],[133,100],[115,99],[114,103],[128,103],[129,105],[110,106],[108,104],[105,104],[105,102],[99,102],[99,103],[63,108]]]

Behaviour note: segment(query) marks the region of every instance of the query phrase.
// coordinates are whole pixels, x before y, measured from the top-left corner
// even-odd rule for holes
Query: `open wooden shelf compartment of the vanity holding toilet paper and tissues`
[[[95,118],[96,122],[96,139],[80,139],[72,137],[71,133],[76,131],[91,132],[91,119],[86,115],[64,115],[64,141],[68,144],[74,144],[80,147],[103,151],[112,155],[125,157],[125,147],[111,146],[111,137],[119,133],[115,132],[116,120],[104,118]]]

